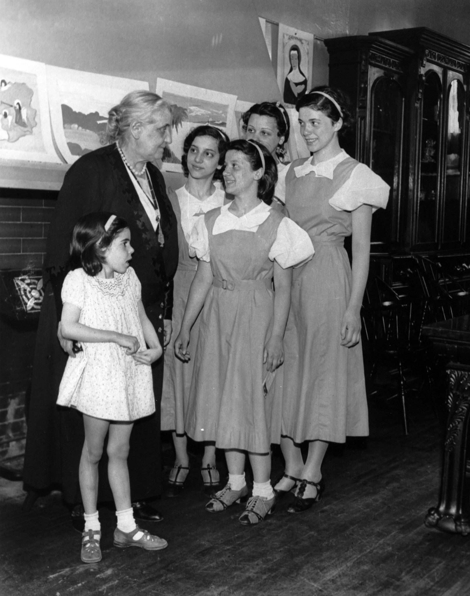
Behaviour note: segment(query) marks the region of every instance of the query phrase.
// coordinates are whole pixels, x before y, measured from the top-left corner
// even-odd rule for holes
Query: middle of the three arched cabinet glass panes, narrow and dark
[[[421,167],[418,204],[418,243],[437,241],[439,147],[442,105],[440,76],[428,71],[422,99]]]

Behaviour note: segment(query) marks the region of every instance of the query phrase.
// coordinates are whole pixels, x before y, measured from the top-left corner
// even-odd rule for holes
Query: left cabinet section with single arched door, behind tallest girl
[[[326,39],[329,84],[343,89],[356,123],[344,149],[390,185],[387,209],[373,217],[372,253],[399,249],[406,83],[412,50],[372,36]]]

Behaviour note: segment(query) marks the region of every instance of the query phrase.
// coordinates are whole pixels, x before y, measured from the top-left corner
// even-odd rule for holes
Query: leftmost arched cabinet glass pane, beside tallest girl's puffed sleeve
[[[403,91],[390,77],[380,77],[371,89],[371,169],[390,186],[387,209],[372,218],[371,243],[398,240]]]

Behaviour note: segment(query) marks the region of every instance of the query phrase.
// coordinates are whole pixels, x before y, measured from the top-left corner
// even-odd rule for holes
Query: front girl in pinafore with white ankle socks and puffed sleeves
[[[266,148],[232,141],[223,178],[234,200],[195,224],[189,249],[200,262],[175,353],[188,358],[189,330],[204,306],[185,429],[192,439],[225,449],[229,480],[206,505],[212,513],[247,498],[248,452],[253,496],[239,521],[256,524],[275,504],[263,382],[283,360],[291,268],[310,259],[313,246],[306,232],[269,206],[277,172]]]

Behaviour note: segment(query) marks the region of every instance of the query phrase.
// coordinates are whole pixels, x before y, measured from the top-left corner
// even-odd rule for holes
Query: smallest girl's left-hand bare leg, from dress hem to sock
[[[101,418],[83,414],[85,443],[79,465],[79,483],[83,508],[87,515],[95,513],[98,500],[98,464],[103,452],[104,439],[110,423]]]

